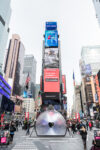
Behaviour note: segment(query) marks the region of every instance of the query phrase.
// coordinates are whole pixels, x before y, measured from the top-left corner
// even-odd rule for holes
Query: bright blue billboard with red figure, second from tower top
[[[45,31],[45,47],[58,47],[58,31]]]

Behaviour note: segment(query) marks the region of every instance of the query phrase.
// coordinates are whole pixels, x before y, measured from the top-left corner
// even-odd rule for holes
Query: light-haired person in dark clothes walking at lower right
[[[87,131],[84,126],[80,129],[80,135],[82,136],[84,150],[86,150],[86,139],[87,139]]]

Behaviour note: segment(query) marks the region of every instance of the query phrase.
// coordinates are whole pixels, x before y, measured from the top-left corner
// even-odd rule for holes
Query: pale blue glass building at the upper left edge
[[[4,63],[5,48],[9,34],[11,0],[0,0],[0,73]]]

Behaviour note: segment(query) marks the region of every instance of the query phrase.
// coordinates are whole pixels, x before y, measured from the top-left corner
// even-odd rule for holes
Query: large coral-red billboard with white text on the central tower
[[[59,69],[44,69],[44,92],[60,92]]]

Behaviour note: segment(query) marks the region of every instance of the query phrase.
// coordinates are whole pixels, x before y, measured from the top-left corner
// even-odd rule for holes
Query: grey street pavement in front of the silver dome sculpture
[[[93,139],[93,131],[88,131],[87,150],[90,150]],[[35,131],[32,136],[26,136],[26,131],[19,129],[15,133],[13,144],[0,150],[83,150],[81,136],[77,133],[65,137],[37,137]]]

